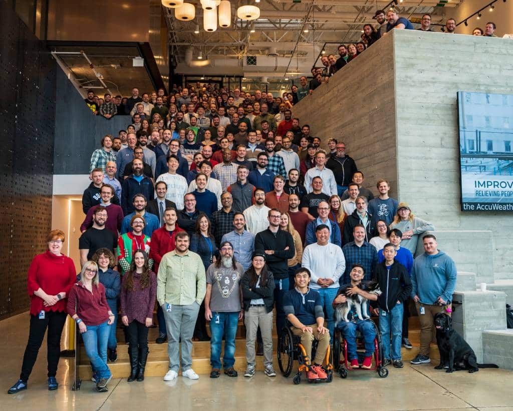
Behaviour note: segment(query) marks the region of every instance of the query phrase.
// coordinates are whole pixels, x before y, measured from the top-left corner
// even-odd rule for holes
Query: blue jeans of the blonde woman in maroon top
[[[87,331],[82,334],[86,354],[97,378],[109,378],[112,375],[107,366],[107,342],[110,328],[111,326],[105,321],[99,325],[87,325]]]

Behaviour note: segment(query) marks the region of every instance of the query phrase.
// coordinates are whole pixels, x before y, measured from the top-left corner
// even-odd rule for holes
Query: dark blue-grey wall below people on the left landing
[[[117,136],[131,124],[131,118],[93,116],[61,69],[57,70],[56,90],[54,173],[88,174],[91,154],[101,147],[102,137]]]

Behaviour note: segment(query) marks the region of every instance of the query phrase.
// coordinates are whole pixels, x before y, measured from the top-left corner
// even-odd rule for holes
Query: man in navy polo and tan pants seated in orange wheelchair
[[[324,327],[321,296],[308,287],[310,276],[310,271],[305,268],[295,272],[295,286],[283,296],[283,309],[291,324],[292,334],[301,337],[301,344],[309,359],[313,340],[318,340],[315,358],[307,372],[309,380],[317,380],[327,378],[322,363],[329,346],[329,331]]]

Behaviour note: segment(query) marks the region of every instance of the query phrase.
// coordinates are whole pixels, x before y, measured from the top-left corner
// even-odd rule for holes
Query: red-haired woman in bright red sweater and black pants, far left
[[[27,290],[30,296],[30,331],[19,380],[9,389],[16,394],[27,388],[27,381],[48,328],[48,389],[57,389],[55,379],[61,355],[61,334],[66,322],[66,297],[76,280],[73,260],[61,254],[64,233],[52,230],[48,250],[32,260]]]

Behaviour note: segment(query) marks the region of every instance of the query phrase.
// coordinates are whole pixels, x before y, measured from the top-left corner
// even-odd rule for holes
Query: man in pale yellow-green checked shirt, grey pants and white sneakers
[[[157,301],[164,310],[168,336],[169,371],[164,381],[178,376],[180,351],[182,376],[200,378],[192,369],[192,334],[205,288],[205,267],[201,257],[189,251],[189,234],[176,234],[176,249],[162,257],[157,274]]]

